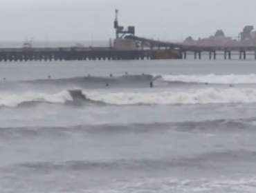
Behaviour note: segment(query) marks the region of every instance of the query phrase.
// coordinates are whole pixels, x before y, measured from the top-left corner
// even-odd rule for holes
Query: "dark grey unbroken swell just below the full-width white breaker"
[[[70,125],[64,127],[14,127],[0,128],[0,137],[6,136],[64,136],[75,133],[118,133],[118,132],[164,132],[175,130],[178,132],[214,132],[255,130],[256,117],[245,119],[213,119],[203,121],[183,121],[165,123],[129,123],[129,124],[100,124],[100,125]]]

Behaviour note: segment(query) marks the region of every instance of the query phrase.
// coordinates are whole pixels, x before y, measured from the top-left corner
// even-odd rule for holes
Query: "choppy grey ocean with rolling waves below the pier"
[[[256,191],[253,59],[2,62],[0,90],[0,192]]]

